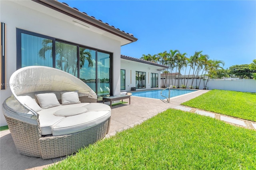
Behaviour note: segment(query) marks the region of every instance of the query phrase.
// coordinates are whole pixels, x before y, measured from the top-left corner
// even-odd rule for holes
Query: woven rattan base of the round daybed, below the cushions
[[[17,121],[5,116],[17,150],[27,156],[43,159],[57,158],[72,154],[88,146],[108,133],[110,118],[95,127],[62,136],[41,137],[36,125]]]

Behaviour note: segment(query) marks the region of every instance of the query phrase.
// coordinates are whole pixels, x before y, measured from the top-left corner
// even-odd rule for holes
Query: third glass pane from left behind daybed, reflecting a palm
[[[80,47],[80,79],[96,92],[96,51]]]

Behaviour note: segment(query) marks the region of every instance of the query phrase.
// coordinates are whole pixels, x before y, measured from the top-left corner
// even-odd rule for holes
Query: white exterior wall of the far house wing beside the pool
[[[158,73],[158,88],[160,87],[161,71],[157,70],[157,69],[160,69],[157,66],[146,64],[146,63],[140,63],[137,61],[131,61],[128,59],[121,59],[121,69],[125,70],[125,90],[122,90],[122,91],[131,91],[131,87],[136,86],[136,71],[146,72],[146,88],[136,89],[136,91],[152,89],[151,73]],[[119,71],[119,74],[120,74],[120,71]],[[119,83],[119,87],[120,87],[120,83]]]

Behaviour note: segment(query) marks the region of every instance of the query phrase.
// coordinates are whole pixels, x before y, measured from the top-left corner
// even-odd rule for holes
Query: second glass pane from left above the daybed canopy
[[[56,41],[56,69],[77,75],[77,46]]]

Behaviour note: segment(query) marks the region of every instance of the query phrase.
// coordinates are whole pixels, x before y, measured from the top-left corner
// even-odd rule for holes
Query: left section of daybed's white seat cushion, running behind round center
[[[64,117],[55,116],[53,113],[60,109],[67,109],[70,107],[84,107],[89,103],[78,103],[73,105],[60,105],[56,107],[51,107],[48,109],[43,109],[38,112],[39,121],[40,121],[40,129],[42,135],[52,134],[52,128],[57,125],[57,123],[62,120]]]

